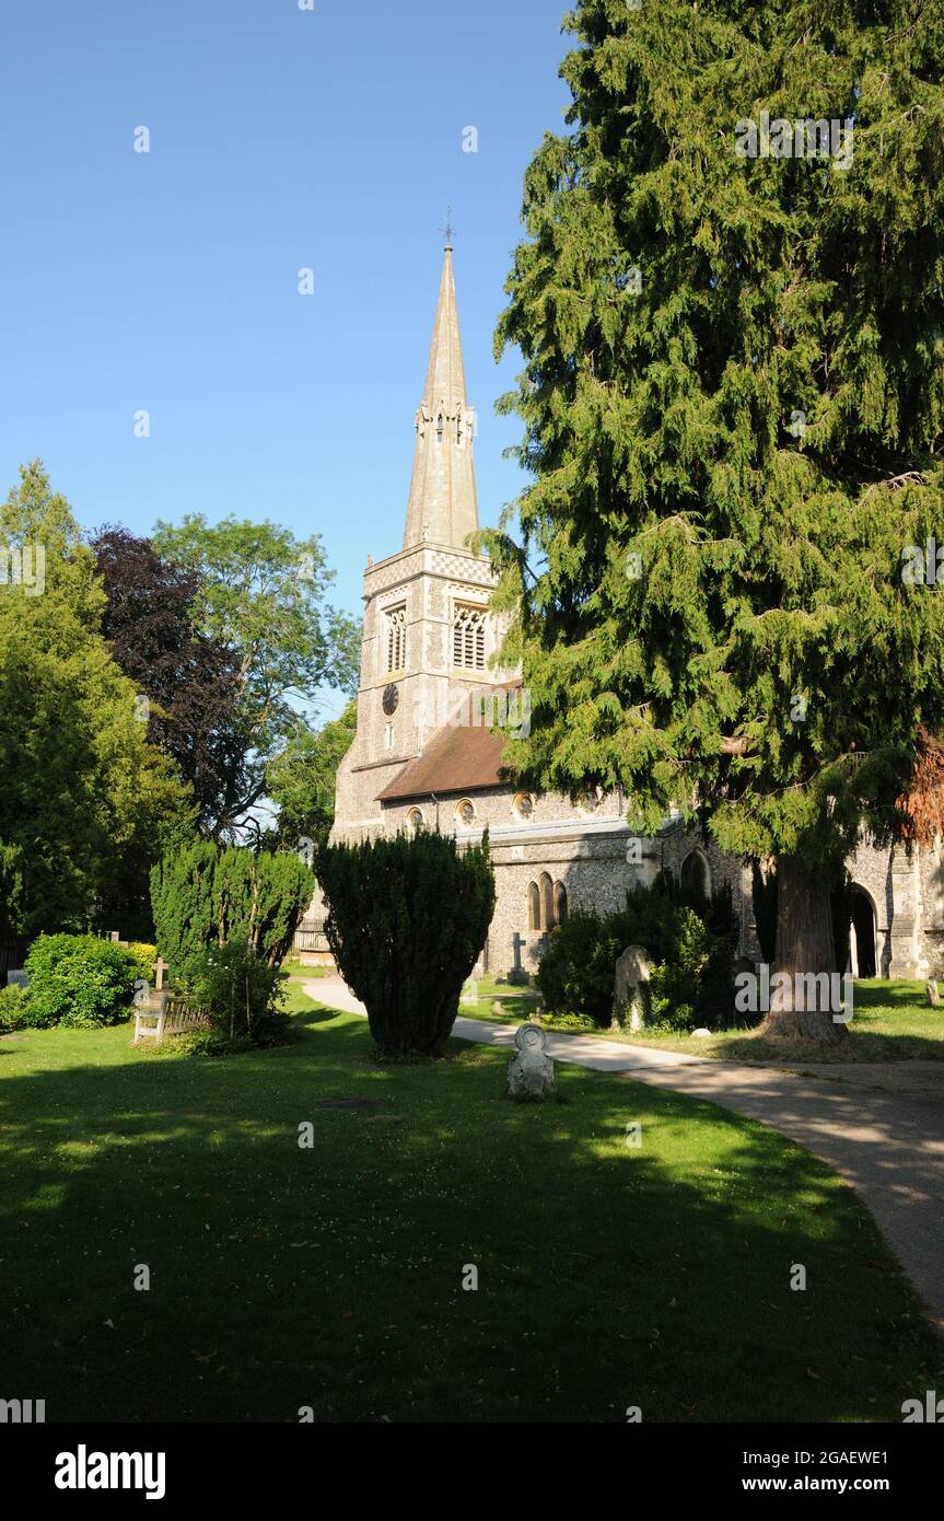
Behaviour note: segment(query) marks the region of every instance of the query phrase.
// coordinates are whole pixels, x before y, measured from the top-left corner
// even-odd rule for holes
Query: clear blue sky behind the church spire
[[[494,415],[518,356],[496,367],[493,332],[523,172],[569,99],[564,9],[5,0],[2,491],[40,455],[84,526],[319,532],[359,611],[366,554],[400,548],[451,204],[494,523],[520,424]]]

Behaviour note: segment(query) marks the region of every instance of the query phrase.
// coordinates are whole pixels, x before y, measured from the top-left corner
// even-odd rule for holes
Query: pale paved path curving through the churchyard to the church
[[[341,978],[304,984],[330,1008],[365,1015]],[[459,1040],[512,1046],[515,1025],[459,1018]],[[707,1098],[807,1147],[859,1191],[944,1329],[944,1063],[815,1063],[803,1071],[710,1062],[652,1046],[547,1031],[556,1062],[625,1072]]]

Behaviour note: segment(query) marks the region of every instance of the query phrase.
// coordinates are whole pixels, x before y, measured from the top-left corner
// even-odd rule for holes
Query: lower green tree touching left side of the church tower
[[[284,750],[269,764],[269,797],[278,805],[278,840],[319,840],[334,823],[334,779],[337,767],[354,742],[357,703],[351,701],[341,718],[312,730],[299,722]]]

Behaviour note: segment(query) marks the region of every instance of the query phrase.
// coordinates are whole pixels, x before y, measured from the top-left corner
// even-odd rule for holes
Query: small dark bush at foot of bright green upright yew
[[[193,998],[208,1015],[211,1036],[228,1046],[275,1045],[287,1024],[287,976],[245,940],[205,951],[195,963]],[[210,1042],[210,1046],[216,1042]]]

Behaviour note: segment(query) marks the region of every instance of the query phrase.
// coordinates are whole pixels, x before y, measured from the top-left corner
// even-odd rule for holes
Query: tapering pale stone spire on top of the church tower
[[[465,400],[453,249],[447,242],[426,389],[417,412],[404,549],[423,543],[464,549],[465,535],[477,529],[474,426],[476,414]]]

